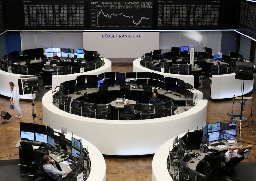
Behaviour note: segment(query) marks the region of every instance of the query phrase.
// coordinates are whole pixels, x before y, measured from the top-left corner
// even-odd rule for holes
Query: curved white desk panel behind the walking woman
[[[12,74],[10,72],[5,72],[3,70],[0,70],[0,83],[1,83],[0,94],[3,96],[11,97],[11,90],[9,87],[9,82],[12,81],[19,91],[18,79],[20,79],[20,77],[24,77],[24,76],[29,76],[29,75]],[[32,100],[32,94],[20,95],[20,98]],[[34,94],[34,98],[36,98],[36,94]]]

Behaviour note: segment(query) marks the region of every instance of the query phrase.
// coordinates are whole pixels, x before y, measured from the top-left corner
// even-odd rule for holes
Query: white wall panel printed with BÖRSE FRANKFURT
[[[83,43],[105,58],[138,58],[159,49],[159,32],[83,32]]]

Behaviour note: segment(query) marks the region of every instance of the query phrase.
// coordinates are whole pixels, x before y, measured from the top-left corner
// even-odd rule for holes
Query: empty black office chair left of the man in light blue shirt
[[[34,150],[32,145],[28,145],[25,142],[20,142],[20,146],[22,149],[22,156],[24,157],[24,162],[22,164],[19,164],[21,167],[27,167],[31,170],[29,172],[25,172],[24,174],[21,174],[21,178],[23,176],[34,177],[33,170],[32,170],[32,161],[34,161]]]

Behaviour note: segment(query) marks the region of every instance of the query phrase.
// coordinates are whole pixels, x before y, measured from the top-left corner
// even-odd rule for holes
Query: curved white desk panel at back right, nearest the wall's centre
[[[140,65],[140,61],[141,61],[141,58],[138,58],[133,61],[133,72],[155,72],[157,74],[164,75],[164,77],[173,77],[173,78],[177,78],[180,80],[184,80],[185,83],[189,83],[194,86],[194,76],[193,75],[170,74],[170,73],[150,70],[150,69]]]

